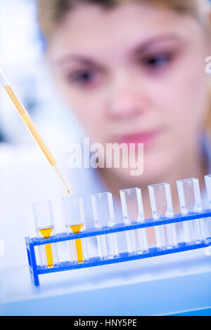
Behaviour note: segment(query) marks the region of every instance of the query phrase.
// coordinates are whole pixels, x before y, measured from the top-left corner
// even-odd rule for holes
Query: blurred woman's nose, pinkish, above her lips
[[[131,79],[120,81],[110,93],[109,114],[115,119],[132,119],[146,109],[143,91]]]

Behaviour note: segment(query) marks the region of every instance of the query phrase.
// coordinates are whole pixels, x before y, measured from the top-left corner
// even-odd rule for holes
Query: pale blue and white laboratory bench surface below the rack
[[[211,256],[205,249],[39,275],[1,272],[0,314],[13,316],[211,315]]]

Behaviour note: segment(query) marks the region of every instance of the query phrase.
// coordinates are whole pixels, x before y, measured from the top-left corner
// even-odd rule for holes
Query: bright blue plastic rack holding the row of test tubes
[[[48,274],[51,272],[62,272],[66,270],[75,270],[79,268],[88,268],[99,265],[106,265],[110,263],[122,263],[124,261],[136,260],[141,258],[151,258],[155,256],[162,256],[170,253],[177,253],[181,251],[188,251],[194,249],[201,249],[207,246],[211,246],[211,237],[207,237],[205,240],[201,242],[183,242],[179,243],[177,246],[172,248],[157,248],[152,247],[149,248],[146,253],[133,254],[129,252],[120,253],[116,258],[110,259],[102,259],[100,257],[89,258],[89,261],[85,261],[84,263],[71,263],[70,261],[60,262],[54,265],[52,268],[48,268],[47,266],[37,265],[37,260],[35,257],[34,246],[40,246],[45,244],[52,244],[58,242],[64,242],[71,239],[83,239],[84,237],[94,237],[97,235],[105,235],[110,234],[112,232],[125,232],[127,230],[136,230],[139,228],[146,227],[155,227],[159,225],[167,225],[168,223],[181,223],[188,220],[196,220],[201,218],[211,218],[211,211],[203,210],[200,213],[190,213],[187,216],[179,214],[175,214],[172,218],[161,218],[160,220],[155,221],[153,218],[146,219],[144,223],[133,222],[131,225],[124,225],[124,223],[117,224],[113,227],[103,227],[101,230],[97,230],[96,228],[86,230],[79,234],[68,234],[68,233],[60,233],[54,235],[48,239],[44,238],[30,238],[25,237],[25,243],[27,248],[27,256],[30,268],[30,277],[32,279],[32,283],[34,286],[39,286],[39,275]]]

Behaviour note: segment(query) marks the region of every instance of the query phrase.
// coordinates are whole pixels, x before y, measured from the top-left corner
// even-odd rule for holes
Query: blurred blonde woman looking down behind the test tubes
[[[211,54],[209,1],[40,0],[38,5],[53,79],[84,136],[105,147],[144,145],[142,175],[132,176],[129,168],[79,169],[71,178],[75,194],[88,198],[110,190],[118,201],[120,189],[138,186],[151,217],[148,185],[168,182],[179,212],[175,181],[196,177],[203,190],[203,177],[211,173],[205,134],[211,103],[205,72]]]

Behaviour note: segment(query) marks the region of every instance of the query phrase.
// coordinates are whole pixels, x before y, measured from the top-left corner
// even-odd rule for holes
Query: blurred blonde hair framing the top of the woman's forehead
[[[96,4],[105,9],[110,9],[118,4],[129,2],[146,2],[151,5],[172,8],[181,14],[193,15],[211,36],[210,0],[37,0],[39,24],[44,36],[49,39],[65,14],[78,4]],[[210,109],[205,119],[205,128],[211,131],[211,88]]]

